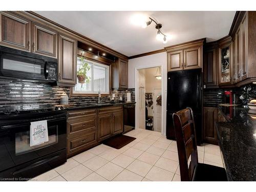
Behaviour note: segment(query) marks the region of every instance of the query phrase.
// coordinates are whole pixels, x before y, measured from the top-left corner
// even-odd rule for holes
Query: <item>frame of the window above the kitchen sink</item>
[[[78,57],[83,57],[83,56],[78,55],[77,59],[78,59]],[[86,60],[88,60],[89,62],[93,63],[93,65],[95,64],[97,66],[102,66],[102,67],[104,67],[106,69],[109,69],[108,70],[108,74],[109,74],[108,75],[109,76],[109,78],[108,78],[109,90],[108,90],[108,92],[102,92],[101,93],[101,95],[104,95],[104,96],[109,95],[110,94],[110,90],[111,90],[111,65],[110,65],[110,63],[101,62],[101,61],[98,61],[98,60],[90,59],[88,57],[84,57],[84,58]],[[76,65],[76,73],[77,73],[77,65]],[[93,70],[91,71],[91,74],[93,74]],[[93,77],[92,77],[92,79],[93,79]],[[76,76],[76,83],[78,83],[77,76]],[[97,92],[78,93],[78,91],[75,91],[74,89],[75,89],[75,86],[70,88],[70,95],[71,96],[97,96],[98,95],[98,91]],[[92,90],[93,90],[93,83],[92,83]]]

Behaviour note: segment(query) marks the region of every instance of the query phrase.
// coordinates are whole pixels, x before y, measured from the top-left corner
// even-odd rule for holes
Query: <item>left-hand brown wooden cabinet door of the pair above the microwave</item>
[[[31,23],[18,16],[0,13],[0,45],[30,52]]]

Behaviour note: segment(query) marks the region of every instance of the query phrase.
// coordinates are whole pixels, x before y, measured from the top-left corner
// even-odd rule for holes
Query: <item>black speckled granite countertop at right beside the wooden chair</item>
[[[241,106],[221,106],[226,122],[217,135],[230,181],[256,181],[256,114]],[[254,116],[255,115],[255,116]]]

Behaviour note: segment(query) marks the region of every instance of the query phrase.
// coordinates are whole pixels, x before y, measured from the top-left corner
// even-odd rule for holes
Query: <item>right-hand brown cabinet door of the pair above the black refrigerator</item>
[[[184,70],[201,68],[201,46],[184,49]]]

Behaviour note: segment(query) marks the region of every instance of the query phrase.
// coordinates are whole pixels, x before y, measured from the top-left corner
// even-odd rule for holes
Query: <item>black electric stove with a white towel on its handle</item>
[[[47,120],[49,141],[30,146],[30,122]],[[0,113],[0,180],[26,181],[67,161],[67,111]]]

